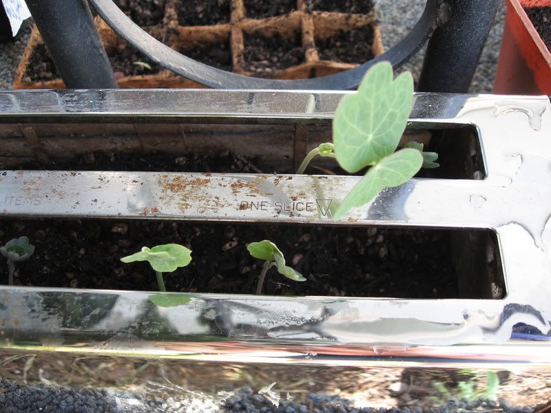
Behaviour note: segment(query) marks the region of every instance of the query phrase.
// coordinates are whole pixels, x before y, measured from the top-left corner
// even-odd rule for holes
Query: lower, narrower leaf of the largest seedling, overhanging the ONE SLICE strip
[[[423,157],[417,149],[407,148],[386,156],[369,169],[333,214],[340,220],[353,207],[361,207],[371,201],[385,187],[397,187],[415,175],[421,168]]]

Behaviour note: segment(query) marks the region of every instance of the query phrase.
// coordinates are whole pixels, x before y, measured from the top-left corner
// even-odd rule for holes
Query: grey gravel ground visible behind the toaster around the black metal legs
[[[376,8],[381,22],[383,44],[388,50],[411,29],[422,14],[425,0],[377,0]],[[486,47],[481,56],[479,67],[472,81],[470,92],[488,93],[492,90],[499,54],[501,33],[505,17],[505,3],[501,2],[495,25],[488,36]],[[23,23],[17,39],[12,42],[0,43],[0,89],[11,89],[13,70],[17,67],[21,53],[30,34],[30,24]],[[414,76],[421,71],[424,48],[404,65]]]

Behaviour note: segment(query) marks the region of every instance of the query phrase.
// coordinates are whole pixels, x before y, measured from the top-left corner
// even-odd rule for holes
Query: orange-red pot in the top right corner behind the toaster
[[[551,0],[506,1],[507,16],[494,92],[551,95],[551,52],[524,10],[551,6]]]

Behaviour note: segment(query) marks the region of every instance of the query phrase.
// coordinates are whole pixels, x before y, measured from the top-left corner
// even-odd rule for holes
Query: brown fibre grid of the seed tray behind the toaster
[[[373,56],[379,56],[383,52],[382,39],[379,25],[375,17],[375,10],[366,14],[347,14],[340,12],[306,11],[304,0],[297,0],[295,11],[265,19],[250,19],[247,17],[245,3],[242,0],[231,0],[231,17],[229,23],[218,25],[182,26],[178,23],[177,0],[167,0],[165,3],[165,17],[163,22],[144,28],[156,39],[163,41],[174,50],[185,54],[186,51],[194,52],[199,49],[216,47],[226,43],[231,51],[232,72],[253,76],[255,72],[247,70],[245,64],[245,34],[274,36],[278,34],[284,39],[291,36],[300,38],[300,47],[304,53],[303,61],[282,70],[274,70],[269,77],[280,79],[309,78],[327,76],[356,67],[360,63],[340,63],[337,61],[322,61],[315,40],[348,32],[355,28],[363,28],[370,25],[373,29],[373,44],[371,52]],[[94,18],[107,54],[111,54],[116,47],[125,47],[125,41],[100,17]],[[37,45],[43,44],[40,33],[36,27],[28,41],[23,56],[14,77],[14,89],[59,89],[63,88],[61,79],[52,81],[31,82],[25,78],[31,56]],[[177,76],[168,70],[161,70],[158,74],[143,74],[135,76],[123,76],[117,80],[119,87],[170,87],[187,88],[203,87],[193,81]]]

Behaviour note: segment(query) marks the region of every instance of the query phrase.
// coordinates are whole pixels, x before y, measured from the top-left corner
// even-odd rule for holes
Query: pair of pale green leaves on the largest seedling
[[[395,152],[412,105],[413,77],[404,72],[394,78],[388,62],[373,65],[357,93],[342,98],[333,119],[337,162],[349,173],[371,168],[341,202],[334,220],[419,171],[423,164],[420,151],[405,148]]]

